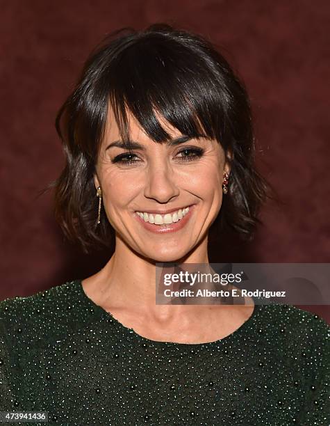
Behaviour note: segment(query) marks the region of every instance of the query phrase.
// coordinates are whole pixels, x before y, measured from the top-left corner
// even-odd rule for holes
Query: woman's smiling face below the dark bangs
[[[156,143],[133,115],[128,118],[131,140],[138,146],[131,152],[119,146],[110,109],[94,183],[102,189],[117,238],[146,258],[175,262],[200,243],[207,245],[208,229],[222,204],[223,172],[229,173],[224,151],[217,141],[204,138]],[[158,120],[172,139],[184,136]]]

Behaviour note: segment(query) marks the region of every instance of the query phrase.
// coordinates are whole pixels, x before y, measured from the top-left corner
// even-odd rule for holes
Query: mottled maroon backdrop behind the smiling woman
[[[54,222],[51,193],[37,195],[63,166],[53,122],[90,49],[121,26],[158,21],[210,38],[239,70],[254,108],[258,164],[285,203],[265,206],[253,243],[222,237],[210,260],[329,262],[328,4],[0,1],[0,298],[84,278],[110,257],[69,246]],[[329,306],[302,308],[330,322]]]

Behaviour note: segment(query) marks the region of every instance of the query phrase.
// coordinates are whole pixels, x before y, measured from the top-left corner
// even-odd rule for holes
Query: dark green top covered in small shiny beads
[[[19,425],[330,425],[329,325],[256,304],[226,338],[149,340],[81,280],[0,302],[0,411],[48,411]]]

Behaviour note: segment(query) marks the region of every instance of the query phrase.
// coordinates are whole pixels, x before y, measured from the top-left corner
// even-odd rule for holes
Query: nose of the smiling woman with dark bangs
[[[174,173],[168,164],[151,164],[148,168],[145,183],[145,197],[158,203],[167,203],[179,195],[179,188],[174,182]]]

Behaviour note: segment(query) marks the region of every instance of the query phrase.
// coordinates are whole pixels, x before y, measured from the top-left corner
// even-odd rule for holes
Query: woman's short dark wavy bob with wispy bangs
[[[272,198],[272,187],[254,165],[245,86],[211,42],[160,23],[144,31],[125,27],[110,33],[90,54],[58,111],[56,129],[66,164],[49,187],[54,189],[56,220],[69,240],[79,241],[85,253],[113,243],[114,230],[104,209],[96,226],[93,180],[109,104],[124,141],[130,140],[126,109],[155,143],[170,138],[155,111],[182,134],[216,139],[231,167],[229,191],[217,221],[220,228],[227,226],[242,239],[253,239],[261,223],[258,212],[266,198]]]

